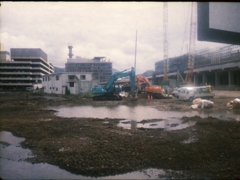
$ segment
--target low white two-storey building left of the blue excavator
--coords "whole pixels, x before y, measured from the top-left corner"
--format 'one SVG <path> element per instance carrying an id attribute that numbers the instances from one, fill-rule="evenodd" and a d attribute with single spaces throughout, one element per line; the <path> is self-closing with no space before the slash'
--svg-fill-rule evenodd
<path id="1" fill-rule="evenodd" d="M 92 80 L 91 73 L 63 72 L 48 74 L 43 77 L 42 87 L 44 93 L 53 94 L 81 94 L 91 91 L 97 82 Z"/>

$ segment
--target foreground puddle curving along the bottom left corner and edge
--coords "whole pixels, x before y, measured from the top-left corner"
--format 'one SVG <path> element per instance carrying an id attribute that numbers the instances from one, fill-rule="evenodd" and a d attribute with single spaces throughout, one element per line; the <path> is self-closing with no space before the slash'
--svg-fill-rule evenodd
<path id="1" fill-rule="evenodd" d="M 0 177 L 1 179 L 156 179 L 161 177 L 173 178 L 168 172 L 162 169 L 143 169 L 126 174 L 106 177 L 86 177 L 72 174 L 57 166 L 47 163 L 31 164 L 24 161 L 33 157 L 29 149 L 20 147 L 25 138 L 12 135 L 11 132 L 0 132 Z M 167 178 L 169 179 L 169 178 Z"/>

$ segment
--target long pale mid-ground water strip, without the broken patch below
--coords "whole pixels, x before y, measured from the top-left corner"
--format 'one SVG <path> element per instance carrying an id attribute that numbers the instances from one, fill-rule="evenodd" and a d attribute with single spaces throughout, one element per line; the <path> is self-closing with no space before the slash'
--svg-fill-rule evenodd
<path id="1" fill-rule="evenodd" d="M 49 109 L 58 111 L 57 116 L 61 117 L 91 117 L 91 118 L 117 118 L 117 119 L 131 119 L 140 122 L 144 119 L 173 119 L 200 116 L 206 118 L 208 116 L 220 118 L 220 119 L 234 119 L 240 120 L 239 113 L 226 112 L 212 112 L 207 113 L 205 111 L 159 111 L 156 108 L 148 106 L 116 106 L 116 107 L 93 107 L 93 106 L 58 106 L 49 107 Z"/>

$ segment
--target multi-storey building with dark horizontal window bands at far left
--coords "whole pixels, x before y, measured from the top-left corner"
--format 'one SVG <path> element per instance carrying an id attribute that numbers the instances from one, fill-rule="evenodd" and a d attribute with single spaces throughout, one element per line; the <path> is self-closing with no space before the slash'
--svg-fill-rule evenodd
<path id="1" fill-rule="evenodd" d="M 1 51 L 0 88 L 2 90 L 26 90 L 42 86 L 42 77 L 54 72 L 47 54 L 39 48 L 11 48 Z"/>

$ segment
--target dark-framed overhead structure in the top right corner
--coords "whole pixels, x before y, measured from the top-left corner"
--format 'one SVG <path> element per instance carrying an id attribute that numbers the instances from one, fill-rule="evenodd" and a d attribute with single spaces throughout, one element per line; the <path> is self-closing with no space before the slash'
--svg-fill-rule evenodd
<path id="1" fill-rule="evenodd" d="M 197 40 L 240 45 L 240 2 L 198 2 Z"/>

